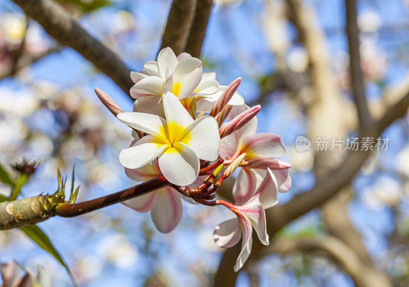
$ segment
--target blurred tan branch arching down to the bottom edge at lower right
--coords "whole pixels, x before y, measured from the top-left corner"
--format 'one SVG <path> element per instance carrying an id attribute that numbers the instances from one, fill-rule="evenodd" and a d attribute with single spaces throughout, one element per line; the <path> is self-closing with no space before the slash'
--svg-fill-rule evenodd
<path id="1" fill-rule="evenodd" d="M 269 253 L 289 254 L 293 252 L 320 252 L 338 264 L 349 274 L 356 286 L 392 286 L 383 276 L 362 264 L 356 253 L 345 243 L 333 236 L 312 239 L 283 238 L 264 248 L 263 255 Z"/>

